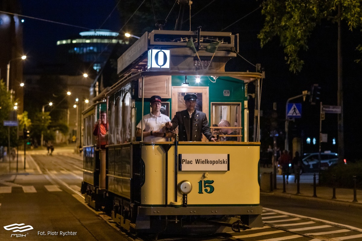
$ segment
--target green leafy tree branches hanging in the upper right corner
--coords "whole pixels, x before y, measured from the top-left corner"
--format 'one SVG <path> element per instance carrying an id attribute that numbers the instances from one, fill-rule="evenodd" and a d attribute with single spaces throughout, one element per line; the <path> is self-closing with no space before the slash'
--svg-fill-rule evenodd
<path id="1" fill-rule="evenodd" d="M 299 58 L 300 50 L 308 50 L 308 38 L 317 24 L 340 20 L 346 22 L 351 31 L 362 27 L 360 0 L 265 0 L 262 7 L 265 23 L 258 34 L 261 47 L 279 36 L 286 63 L 294 73 L 302 70 L 304 61 Z M 355 47 L 362 52 L 361 45 Z"/>

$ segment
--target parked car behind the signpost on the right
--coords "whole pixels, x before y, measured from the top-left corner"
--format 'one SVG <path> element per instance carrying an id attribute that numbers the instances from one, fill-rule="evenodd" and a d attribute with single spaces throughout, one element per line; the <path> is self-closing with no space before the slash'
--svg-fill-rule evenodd
<path id="1" fill-rule="evenodd" d="M 303 171 L 319 171 L 319 153 L 304 153 L 302 157 Z M 338 154 L 334 152 L 322 152 L 320 154 L 320 169 L 327 170 L 331 165 L 338 163 Z"/>

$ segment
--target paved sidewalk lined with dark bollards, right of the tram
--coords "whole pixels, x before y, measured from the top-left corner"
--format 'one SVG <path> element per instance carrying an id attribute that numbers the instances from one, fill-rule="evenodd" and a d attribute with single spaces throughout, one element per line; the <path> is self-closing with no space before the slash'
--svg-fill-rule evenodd
<path id="1" fill-rule="evenodd" d="M 353 202 L 354 194 L 353 189 L 349 188 L 336 188 L 336 199 L 332 199 L 333 197 L 333 188 L 329 188 L 326 186 L 318 185 L 318 173 L 316 173 L 316 195 L 317 197 L 313 197 L 313 174 L 314 173 L 303 173 L 300 175 L 299 181 L 299 192 L 297 193 L 297 184 L 294 183 L 294 175 L 289 175 L 288 184 L 285 184 L 285 193 L 283 193 L 283 176 L 277 175 L 277 189 L 273 188 L 273 191 L 270 191 L 270 172 L 272 172 L 272 168 L 262 168 L 260 167 L 261 174 L 261 195 L 278 195 L 286 198 L 304 198 L 308 200 L 322 201 L 334 203 L 336 205 L 344 205 L 344 206 L 353 206 L 362 208 L 362 190 L 357 189 L 357 201 Z M 263 179 L 264 178 L 264 179 Z M 265 179 L 268 180 L 265 180 Z M 286 177 L 285 177 L 286 178 Z M 286 180 L 287 181 L 287 180 Z M 274 186 L 273 186 L 274 187 Z"/>

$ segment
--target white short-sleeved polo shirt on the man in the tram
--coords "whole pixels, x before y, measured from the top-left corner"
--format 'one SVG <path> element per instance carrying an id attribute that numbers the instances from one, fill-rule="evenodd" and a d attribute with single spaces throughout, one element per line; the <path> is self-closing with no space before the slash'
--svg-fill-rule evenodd
<path id="1" fill-rule="evenodd" d="M 143 116 L 143 130 L 145 132 L 157 131 L 157 132 L 163 132 L 166 133 L 166 122 L 171 121 L 170 117 L 167 115 L 161 114 L 159 116 L 155 116 L 152 113 L 147 114 Z M 138 123 L 137 128 L 141 129 L 141 121 Z M 148 137 L 143 137 L 143 141 L 166 141 L 166 138 L 164 137 L 155 137 L 153 135 L 150 135 Z"/>

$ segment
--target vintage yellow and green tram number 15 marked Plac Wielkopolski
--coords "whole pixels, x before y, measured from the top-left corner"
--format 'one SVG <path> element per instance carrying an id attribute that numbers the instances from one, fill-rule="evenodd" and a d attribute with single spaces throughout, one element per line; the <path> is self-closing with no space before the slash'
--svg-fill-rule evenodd
<path id="1" fill-rule="evenodd" d="M 137 232 L 215 233 L 261 227 L 260 143 L 248 142 L 247 85 L 258 72 L 225 72 L 236 56 L 231 33 L 154 30 L 118 59 L 119 81 L 83 112 L 82 193 L 94 208 L 109 211 L 120 226 Z M 164 142 L 136 137 L 136 125 L 159 95 L 171 119 L 198 96 L 212 132 L 227 120 L 237 141 Z M 96 146 L 92 129 L 107 109 L 108 145 Z M 141 121 L 142 122 L 142 121 Z M 143 129 L 143 124 L 142 128 Z M 182 134 L 182 133 L 180 133 Z"/>

